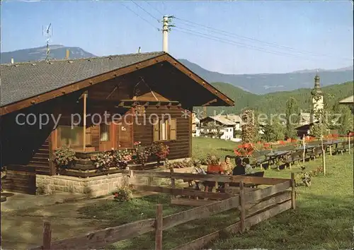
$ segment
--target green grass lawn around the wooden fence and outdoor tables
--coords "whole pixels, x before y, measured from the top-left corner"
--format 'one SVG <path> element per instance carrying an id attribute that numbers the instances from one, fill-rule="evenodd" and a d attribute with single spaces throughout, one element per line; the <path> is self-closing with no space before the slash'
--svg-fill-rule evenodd
<path id="1" fill-rule="evenodd" d="M 214 141 L 215 140 L 215 141 Z M 219 157 L 232 155 L 236 143 L 193 138 L 193 154 L 217 153 Z M 198 155 L 195 155 L 198 156 Z M 315 169 L 321 160 L 305 163 Z M 353 155 L 326 155 L 326 177 L 312 178 L 312 186 L 297 187 L 297 209 L 287 210 L 251 228 L 245 234 L 236 234 L 213 242 L 211 249 L 349 249 L 353 247 Z M 299 167 L 293 166 L 293 172 Z M 290 169 L 266 170 L 265 177 L 290 178 Z M 169 196 L 145 196 L 127 203 L 108 201 L 102 206 L 81 210 L 84 217 L 108 220 L 107 226 L 121 225 L 135 220 L 154 218 L 156 204 L 164 206 L 164 215 L 188 209 L 169 204 Z M 227 227 L 239 220 L 236 210 L 195 220 L 164 231 L 163 249 L 190 242 L 205 234 Z M 110 249 L 154 249 L 154 233 L 114 244 Z"/>

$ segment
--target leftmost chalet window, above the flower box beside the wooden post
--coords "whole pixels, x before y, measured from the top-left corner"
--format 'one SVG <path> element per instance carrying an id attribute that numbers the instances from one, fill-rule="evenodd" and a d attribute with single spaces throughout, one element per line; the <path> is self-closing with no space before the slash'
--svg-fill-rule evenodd
<path id="1" fill-rule="evenodd" d="M 82 148 L 84 144 L 84 127 L 58 126 L 57 148 L 64 145 L 70 148 Z"/>

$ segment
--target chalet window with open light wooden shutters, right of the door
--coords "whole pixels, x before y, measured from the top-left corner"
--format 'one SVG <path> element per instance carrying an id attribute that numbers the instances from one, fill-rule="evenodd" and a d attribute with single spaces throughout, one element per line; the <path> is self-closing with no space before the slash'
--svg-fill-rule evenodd
<path id="1" fill-rule="evenodd" d="M 158 120 L 154 122 L 154 141 L 176 140 L 176 119 Z"/>

